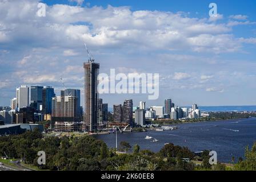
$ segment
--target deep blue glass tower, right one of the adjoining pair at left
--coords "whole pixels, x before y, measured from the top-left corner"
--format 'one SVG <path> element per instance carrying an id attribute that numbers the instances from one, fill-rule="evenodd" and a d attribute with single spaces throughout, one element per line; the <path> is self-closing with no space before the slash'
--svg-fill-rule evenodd
<path id="1" fill-rule="evenodd" d="M 51 88 L 51 86 L 43 86 L 43 114 L 51 114 L 51 102 L 53 97 L 55 97 L 54 88 Z"/>

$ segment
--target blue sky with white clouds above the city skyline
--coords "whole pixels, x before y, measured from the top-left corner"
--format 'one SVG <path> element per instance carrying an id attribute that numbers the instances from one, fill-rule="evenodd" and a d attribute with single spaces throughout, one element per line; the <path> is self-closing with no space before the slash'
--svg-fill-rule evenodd
<path id="1" fill-rule="evenodd" d="M 49 85 L 60 95 L 60 78 L 83 93 L 85 42 L 100 73 L 159 73 L 158 100 L 101 94 L 109 107 L 166 98 L 178 106 L 256 105 L 255 12 L 254 0 L 0 0 L 0 106 L 20 85 Z"/>

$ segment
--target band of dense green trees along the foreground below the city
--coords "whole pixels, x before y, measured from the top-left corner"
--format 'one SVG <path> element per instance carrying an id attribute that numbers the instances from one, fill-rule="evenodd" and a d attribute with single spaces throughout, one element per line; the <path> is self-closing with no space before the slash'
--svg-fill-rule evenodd
<path id="1" fill-rule="evenodd" d="M 37 152 L 46 152 L 46 165 L 38 166 Z M 43 138 L 38 130 L 28 131 L 21 135 L 10 135 L 0 138 L 0 155 L 9 158 L 24 159 L 27 164 L 50 170 L 195 170 L 195 169 L 226 169 L 222 164 L 214 168 L 209 165 L 209 151 L 201 158 L 195 156 L 187 147 L 166 144 L 159 152 L 141 150 L 136 144 L 130 146 L 121 142 L 118 154 L 114 148 L 108 148 L 102 140 L 86 136 L 47 137 Z M 185 162 L 183 158 L 202 160 L 202 166 Z M 256 144 L 246 150 L 246 160 L 235 165 L 236 169 L 256 169 Z"/>

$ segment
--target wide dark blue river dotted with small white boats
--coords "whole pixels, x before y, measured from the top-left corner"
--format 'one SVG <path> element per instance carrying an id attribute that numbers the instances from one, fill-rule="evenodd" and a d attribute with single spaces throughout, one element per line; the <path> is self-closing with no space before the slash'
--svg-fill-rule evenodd
<path id="1" fill-rule="evenodd" d="M 134 146 L 139 144 L 142 149 L 158 152 L 165 143 L 186 146 L 191 151 L 217 151 L 218 161 L 229 163 L 232 156 L 237 161 L 244 156 L 245 147 L 256 142 L 256 118 L 232 119 L 229 121 L 213 121 L 201 123 L 185 123 L 176 125 L 177 130 L 147 131 L 142 133 L 118 133 L 118 143 L 126 141 Z M 238 131 L 239 130 L 239 131 Z M 144 139 L 150 135 L 158 142 Z M 115 147 L 115 134 L 97 135 L 109 147 Z"/>

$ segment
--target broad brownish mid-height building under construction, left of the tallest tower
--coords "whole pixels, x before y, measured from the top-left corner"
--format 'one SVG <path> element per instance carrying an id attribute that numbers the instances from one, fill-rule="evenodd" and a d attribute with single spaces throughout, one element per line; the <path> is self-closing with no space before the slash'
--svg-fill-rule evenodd
<path id="1" fill-rule="evenodd" d="M 53 97 L 52 117 L 55 131 L 79 131 L 77 97 Z"/>

